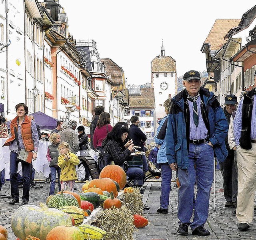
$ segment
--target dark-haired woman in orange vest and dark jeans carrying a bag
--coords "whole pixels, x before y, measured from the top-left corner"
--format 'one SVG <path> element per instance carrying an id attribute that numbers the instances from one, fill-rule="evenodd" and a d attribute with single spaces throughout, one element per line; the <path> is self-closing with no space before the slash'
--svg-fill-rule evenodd
<path id="1" fill-rule="evenodd" d="M 18 151 L 25 149 L 26 151 L 34 151 L 33 159 L 37 157 L 39 145 L 38 132 L 36 124 L 27 116 L 28 107 L 24 103 L 19 103 L 15 106 L 17 116 L 10 123 L 10 138 L 6 140 L 4 146 L 9 146 L 10 154 L 10 182 L 12 201 L 9 204 L 14 205 L 19 202 L 18 188 Z M 16 137 L 18 137 L 18 141 Z M 19 144 L 19 146 L 18 146 Z M 23 196 L 22 205 L 28 204 L 29 189 L 30 189 L 30 163 L 22 161 L 22 176 L 23 176 Z"/>

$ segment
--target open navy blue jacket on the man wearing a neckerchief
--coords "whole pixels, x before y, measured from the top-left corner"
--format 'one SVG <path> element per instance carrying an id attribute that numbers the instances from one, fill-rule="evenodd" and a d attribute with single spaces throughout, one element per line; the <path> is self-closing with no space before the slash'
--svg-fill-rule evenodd
<path id="1" fill-rule="evenodd" d="M 220 162 L 228 155 L 225 138 L 228 133 L 228 122 L 213 92 L 200 87 L 200 97 L 203 100 L 201 108 L 202 115 L 208 128 L 209 141 L 214 148 L 214 156 Z M 186 108 L 187 121 L 185 120 L 184 102 L 186 102 L 185 89 L 172 98 L 171 113 L 168 116 L 166 129 L 166 156 L 168 163 L 177 163 L 181 169 L 188 169 L 188 147 L 189 147 L 189 108 Z M 213 161 L 213 159 L 212 159 Z"/>

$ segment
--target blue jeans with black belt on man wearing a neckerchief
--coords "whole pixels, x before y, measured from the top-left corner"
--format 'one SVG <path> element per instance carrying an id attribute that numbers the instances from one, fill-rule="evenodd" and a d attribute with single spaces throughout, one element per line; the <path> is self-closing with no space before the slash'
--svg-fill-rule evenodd
<path id="1" fill-rule="evenodd" d="M 208 218 L 210 191 L 214 172 L 214 151 L 207 143 L 189 145 L 188 169 L 178 169 L 180 188 L 178 191 L 179 224 L 190 225 L 193 231 L 198 226 L 204 226 Z M 197 193 L 193 221 L 194 186 Z"/>

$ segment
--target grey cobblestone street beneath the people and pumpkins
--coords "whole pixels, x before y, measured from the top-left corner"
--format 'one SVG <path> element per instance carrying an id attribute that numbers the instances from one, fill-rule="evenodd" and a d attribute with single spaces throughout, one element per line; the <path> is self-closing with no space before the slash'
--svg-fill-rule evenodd
<path id="1" fill-rule="evenodd" d="M 46 202 L 50 185 L 47 183 L 37 183 L 42 185 L 40 189 L 30 189 L 30 201 L 32 205 L 39 205 L 40 202 Z M 76 183 L 76 191 L 79 191 L 83 183 Z M 158 214 L 156 210 L 159 208 L 160 198 L 160 181 L 149 181 L 144 184 L 145 192 L 143 196 L 144 202 L 150 207 L 150 210 L 145 211 L 146 217 L 149 219 L 149 224 L 145 228 L 140 228 L 139 232 L 134 234 L 136 240 L 185 240 L 185 239 L 216 239 L 216 240 L 238 240 L 238 239 L 256 239 L 255 231 L 256 224 L 252 222 L 247 232 L 241 232 L 237 229 L 238 221 L 234 214 L 233 208 L 224 207 L 224 196 L 222 190 L 222 176 L 220 171 L 216 172 L 216 210 L 214 210 L 214 194 L 212 188 L 212 194 L 210 197 L 210 209 L 208 220 L 205 224 L 205 228 L 210 230 L 210 236 L 197 236 L 191 235 L 189 228 L 188 236 L 178 236 L 176 230 L 178 228 L 177 219 L 177 205 L 178 205 L 178 189 L 174 188 L 172 183 L 172 191 L 170 193 L 170 206 L 168 214 Z M 22 189 L 20 189 L 20 194 Z M 3 185 L 1 194 L 10 193 L 10 181 L 6 181 Z M 0 217 L 0 224 L 8 230 L 8 240 L 16 240 L 12 229 L 10 228 L 10 219 L 14 210 L 21 206 L 20 203 L 15 205 L 9 205 L 10 200 L 6 198 L 0 198 L 0 211 L 2 215 Z"/>

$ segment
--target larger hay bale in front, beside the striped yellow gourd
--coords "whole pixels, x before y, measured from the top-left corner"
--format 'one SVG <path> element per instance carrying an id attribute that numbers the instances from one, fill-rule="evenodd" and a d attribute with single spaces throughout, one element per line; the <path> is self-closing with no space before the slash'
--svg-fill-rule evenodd
<path id="1" fill-rule="evenodd" d="M 102 228 L 108 233 L 114 233 L 112 240 L 133 240 L 133 232 L 138 231 L 133 220 L 132 212 L 127 207 L 122 206 L 117 209 L 112 206 L 110 209 L 100 211 L 92 225 Z"/>

